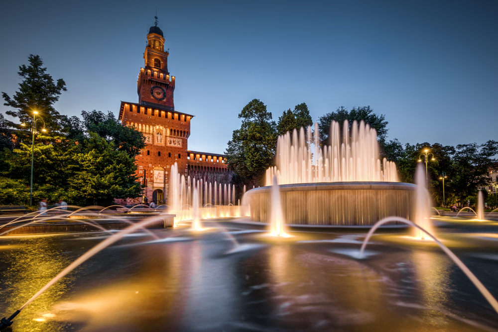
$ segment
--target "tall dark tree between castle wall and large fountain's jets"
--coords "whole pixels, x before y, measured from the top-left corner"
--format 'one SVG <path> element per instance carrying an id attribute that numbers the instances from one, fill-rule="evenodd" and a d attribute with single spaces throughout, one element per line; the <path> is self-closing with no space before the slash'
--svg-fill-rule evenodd
<path id="1" fill-rule="evenodd" d="M 251 100 L 239 118 L 242 119 L 241 128 L 234 130 L 225 152 L 227 165 L 242 178 L 240 184 L 257 186 L 275 156 L 276 124 L 258 99 Z"/>

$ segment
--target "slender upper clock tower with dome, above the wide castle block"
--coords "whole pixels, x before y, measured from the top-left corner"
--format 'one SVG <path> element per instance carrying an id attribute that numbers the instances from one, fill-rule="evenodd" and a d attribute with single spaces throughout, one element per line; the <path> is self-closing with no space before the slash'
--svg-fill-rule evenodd
<path id="1" fill-rule="evenodd" d="M 143 53 L 145 65 L 140 68 L 138 75 L 136 91 L 139 104 L 160 106 L 167 110 L 175 109 L 175 77 L 170 77 L 168 72 L 168 55 L 169 53 L 164 51 L 164 34 L 156 21 L 147 34 L 147 47 Z"/>

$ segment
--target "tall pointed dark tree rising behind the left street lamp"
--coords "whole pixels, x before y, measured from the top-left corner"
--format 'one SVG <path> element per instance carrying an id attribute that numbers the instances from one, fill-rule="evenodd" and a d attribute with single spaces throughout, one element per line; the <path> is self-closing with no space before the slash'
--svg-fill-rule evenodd
<path id="1" fill-rule="evenodd" d="M 62 91 L 67 91 L 64 80 L 59 79 L 57 83 L 46 73 L 47 69 L 43 67 L 43 61 L 38 55 L 29 55 L 29 65 L 19 66 L 17 73 L 22 82 L 19 83 L 19 90 L 11 98 L 5 92 L 2 97 L 5 100 L 4 105 L 10 106 L 15 110 L 8 110 L 5 113 L 16 117 L 20 122 L 30 123 L 30 117 L 33 111 L 37 111 L 37 116 L 44 122 L 50 132 L 56 132 L 60 129 L 60 114 L 54 108 L 54 103 L 59 100 Z M 17 129 L 21 129 L 19 124 L 11 121 L 7 123 Z"/>

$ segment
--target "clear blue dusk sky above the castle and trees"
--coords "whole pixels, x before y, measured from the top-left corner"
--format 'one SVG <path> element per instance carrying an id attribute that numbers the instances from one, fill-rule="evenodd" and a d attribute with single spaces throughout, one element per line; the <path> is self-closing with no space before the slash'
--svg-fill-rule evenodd
<path id="1" fill-rule="evenodd" d="M 498 140 L 497 1 L 4 1 L 0 91 L 37 54 L 67 84 L 60 113 L 118 115 L 156 6 L 191 150 L 223 153 L 253 98 L 274 120 L 370 105 L 403 144 Z"/>

